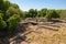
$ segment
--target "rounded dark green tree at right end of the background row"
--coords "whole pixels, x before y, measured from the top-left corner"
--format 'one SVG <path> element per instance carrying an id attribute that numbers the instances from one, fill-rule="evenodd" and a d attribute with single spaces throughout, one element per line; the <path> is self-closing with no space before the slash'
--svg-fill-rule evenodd
<path id="1" fill-rule="evenodd" d="M 47 14 L 45 15 L 47 20 L 59 18 L 59 14 L 55 10 L 48 10 Z"/>

